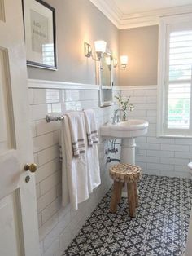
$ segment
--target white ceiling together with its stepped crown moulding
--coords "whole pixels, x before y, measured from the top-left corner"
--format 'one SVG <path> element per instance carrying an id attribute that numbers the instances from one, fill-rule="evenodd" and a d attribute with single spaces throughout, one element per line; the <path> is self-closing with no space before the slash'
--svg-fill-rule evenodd
<path id="1" fill-rule="evenodd" d="M 118 29 L 159 24 L 159 17 L 191 13 L 192 0 L 89 0 Z"/>

